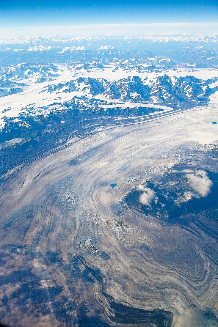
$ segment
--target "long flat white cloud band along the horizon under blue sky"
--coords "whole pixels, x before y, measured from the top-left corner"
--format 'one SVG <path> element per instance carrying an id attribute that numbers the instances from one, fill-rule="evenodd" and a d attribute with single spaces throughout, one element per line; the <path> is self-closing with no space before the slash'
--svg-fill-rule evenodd
<path id="1" fill-rule="evenodd" d="M 82 34 L 144 34 L 144 33 L 187 33 L 204 35 L 218 34 L 218 23 L 150 23 L 150 24 L 90 24 L 68 26 L 27 26 L 0 28 L 0 37 L 39 36 L 39 35 L 82 35 Z M 184 35 L 184 37 L 188 37 Z"/>

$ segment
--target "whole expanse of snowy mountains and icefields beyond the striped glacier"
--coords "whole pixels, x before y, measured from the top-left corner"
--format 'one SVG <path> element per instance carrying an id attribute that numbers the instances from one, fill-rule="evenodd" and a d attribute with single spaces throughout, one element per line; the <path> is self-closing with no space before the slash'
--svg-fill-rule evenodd
<path id="1" fill-rule="evenodd" d="M 3 54 L 1 142 L 22 139 L 67 117 L 157 114 L 216 99 L 218 61 L 212 50 L 186 49 L 177 57 L 173 50 L 169 57 L 167 52 L 161 57 L 160 51 L 156 55 L 112 46 L 97 50 L 59 46 L 57 51 L 55 46 L 38 46 L 39 42 L 43 41 L 31 40 L 27 50 L 14 50 L 13 60 L 10 49 Z M 31 60 L 18 62 L 27 57 Z"/>

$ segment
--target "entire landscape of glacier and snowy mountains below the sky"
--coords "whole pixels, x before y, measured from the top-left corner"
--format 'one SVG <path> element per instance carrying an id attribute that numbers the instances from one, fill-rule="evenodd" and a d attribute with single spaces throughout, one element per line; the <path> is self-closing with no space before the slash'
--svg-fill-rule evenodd
<path id="1" fill-rule="evenodd" d="M 218 37 L 0 40 L 0 322 L 218 326 Z"/>

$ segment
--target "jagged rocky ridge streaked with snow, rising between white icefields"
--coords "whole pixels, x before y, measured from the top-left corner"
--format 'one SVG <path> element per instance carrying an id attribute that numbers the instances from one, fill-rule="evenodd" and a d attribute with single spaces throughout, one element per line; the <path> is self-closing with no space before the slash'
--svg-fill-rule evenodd
<path id="1" fill-rule="evenodd" d="M 147 101 L 167 103 L 203 103 L 208 100 L 211 90 L 204 80 L 193 76 L 173 77 L 168 75 L 142 79 L 139 76 L 107 80 L 105 78 L 79 77 L 65 83 L 51 84 L 45 93 L 73 93 L 102 95 L 124 101 Z M 183 105 L 183 104 L 182 104 Z"/>

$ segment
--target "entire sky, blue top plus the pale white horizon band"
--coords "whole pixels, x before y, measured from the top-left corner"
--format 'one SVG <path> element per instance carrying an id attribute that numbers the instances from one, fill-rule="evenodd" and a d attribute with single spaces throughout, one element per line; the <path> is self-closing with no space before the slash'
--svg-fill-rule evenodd
<path id="1" fill-rule="evenodd" d="M 217 0 L 0 0 L 0 37 L 141 31 L 217 34 L 217 23 Z"/>

